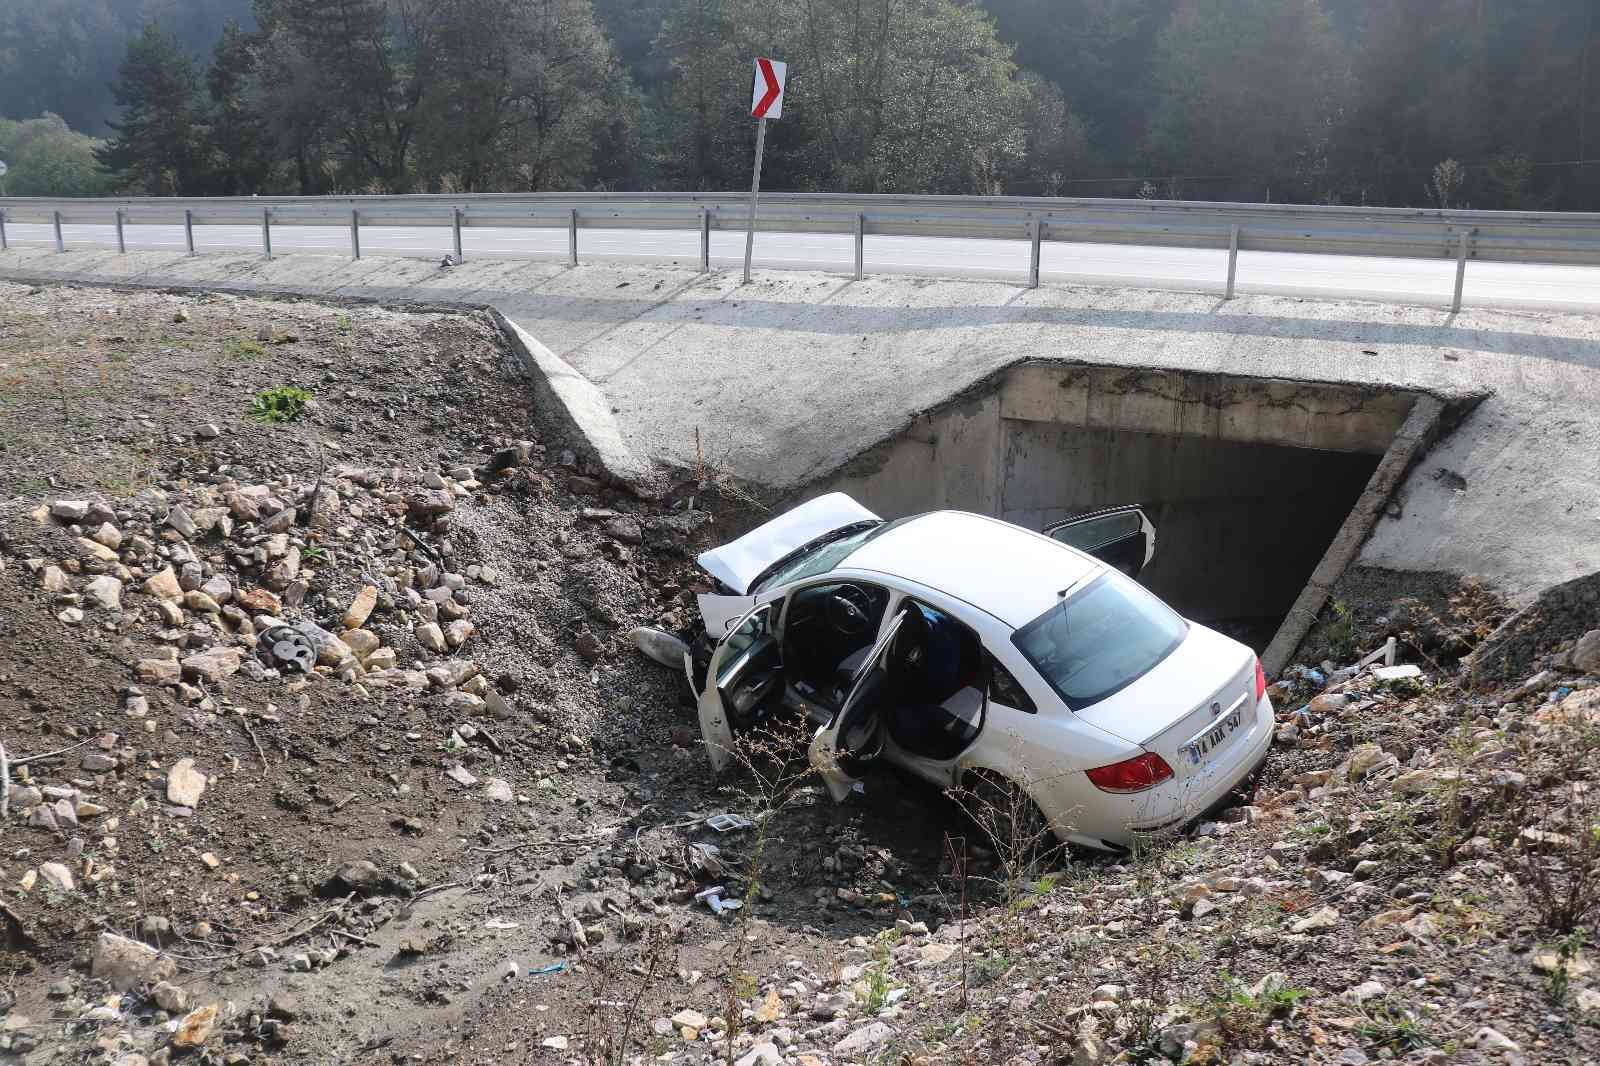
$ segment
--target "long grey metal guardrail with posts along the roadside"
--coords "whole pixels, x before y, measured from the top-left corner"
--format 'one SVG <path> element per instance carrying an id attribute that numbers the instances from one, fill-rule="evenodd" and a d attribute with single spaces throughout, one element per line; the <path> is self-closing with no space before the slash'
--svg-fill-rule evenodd
<path id="1" fill-rule="evenodd" d="M 350 254 L 360 258 L 362 226 L 435 226 L 461 234 L 470 227 L 565 229 L 568 256 L 578 262 L 584 229 L 699 230 L 701 269 L 710 269 L 710 232 L 742 230 L 747 194 L 472 194 L 358 197 L 134 197 L 107 200 L 0 198 L 0 248 L 5 224 L 54 226 L 64 251 L 64 224 L 114 224 L 118 251 L 125 227 L 182 224 L 194 254 L 194 227 L 259 224 L 262 253 L 272 256 L 272 227 L 349 226 Z M 766 194 L 755 227 L 763 232 L 845 234 L 854 237 L 856 277 L 866 271 L 866 237 L 968 237 L 1026 240 L 1029 285 L 1038 285 L 1043 242 L 1152 245 L 1227 250 L 1232 298 L 1240 251 L 1301 251 L 1336 256 L 1454 259 L 1453 307 L 1469 259 L 1491 262 L 1600 264 L 1600 214 L 1550 211 L 1437 211 L 1411 208 L 1296 206 L 1275 203 L 1198 203 L 1181 200 L 1088 200 L 1054 197 L 898 197 L 840 194 Z"/>

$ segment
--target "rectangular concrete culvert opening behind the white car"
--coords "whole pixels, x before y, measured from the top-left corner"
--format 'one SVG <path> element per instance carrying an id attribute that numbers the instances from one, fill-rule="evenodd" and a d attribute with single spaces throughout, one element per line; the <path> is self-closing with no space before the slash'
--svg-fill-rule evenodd
<path id="1" fill-rule="evenodd" d="M 938 507 L 1029 528 L 1142 504 L 1142 581 L 1282 669 L 1395 487 L 1482 394 L 1066 363 L 1011 367 L 851 459 L 843 490 L 885 517 Z"/>

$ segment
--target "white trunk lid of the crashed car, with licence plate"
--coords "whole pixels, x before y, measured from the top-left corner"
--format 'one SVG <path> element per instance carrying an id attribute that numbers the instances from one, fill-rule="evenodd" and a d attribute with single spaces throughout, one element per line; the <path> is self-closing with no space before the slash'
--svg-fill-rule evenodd
<path id="1" fill-rule="evenodd" d="M 1250 648 L 1205 626 L 1190 626 L 1184 642 L 1144 677 L 1077 714 L 1154 751 L 1182 779 L 1250 731 L 1254 690 Z"/>

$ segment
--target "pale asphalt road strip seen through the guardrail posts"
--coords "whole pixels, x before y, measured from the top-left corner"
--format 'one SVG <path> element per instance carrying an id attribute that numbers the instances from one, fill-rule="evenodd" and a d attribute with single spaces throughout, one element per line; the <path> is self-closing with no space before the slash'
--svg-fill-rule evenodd
<path id="1" fill-rule="evenodd" d="M 182 250 L 181 226 L 130 226 L 128 246 Z M 50 226 L 11 224 L 11 242 L 50 245 Z M 64 226 L 69 248 L 115 245 L 110 226 Z M 467 258 L 566 256 L 565 229 L 467 229 Z M 254 226 L 202 226 L 195 229 L 200 251 L 259 250 Z M 342 227 L 275 226 L 275 251 L 326 251 L 349 254 L 349 230 Z M 443 256 L 450 251 L 446 227 L 362 229 L 362 250 L 378 254 Z M 1046 243 L 1042 275 L 1134 288 L 1221 291 L 1227 279 L 1224 251 L 1192 248 L 1142 248 L 1130 245 Z M 693 230 L 589 229 L 579 232 L 579 259 L 696 262 L 699 235 Z M 734 267 L 744 261 L 744 234 L 714 232 L 712 264 Z M 848 235 L 757 234 L 760 267 L 848 271 L 854 245 Z M 928 274 L 1018 280 L 1027 275 L 1027 243 L 1013 240 L 957 240 L 928 237 L 867 237 L 866 269 L 870 274 Z M 1240 291 L 1302 296 L 1365 298 L 1406 304 L 1448 304 L 1454 287 L 1451 259 L 1390 259 L 1365 256 L 1310 256 L 1245 251 L 1238 256 Z M 1594 311 L 1600 307 L 1600 267 L 1469 262 L 1464 303 L 1482 307 L 1538 307 Z"/>

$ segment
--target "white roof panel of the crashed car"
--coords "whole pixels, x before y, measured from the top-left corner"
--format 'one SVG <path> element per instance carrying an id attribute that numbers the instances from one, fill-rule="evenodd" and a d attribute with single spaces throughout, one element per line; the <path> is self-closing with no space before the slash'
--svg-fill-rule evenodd
<path id="1" fill-rule="evenodd" d="M 968 511 L 934 511 L 899 522 L 840 567 L 939 589 L 1011 627 L 1034 621 L 1062 589 L 1102 570 L 1048 536 Z"/>

